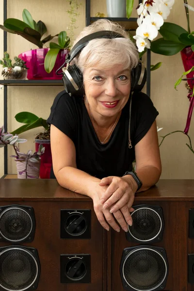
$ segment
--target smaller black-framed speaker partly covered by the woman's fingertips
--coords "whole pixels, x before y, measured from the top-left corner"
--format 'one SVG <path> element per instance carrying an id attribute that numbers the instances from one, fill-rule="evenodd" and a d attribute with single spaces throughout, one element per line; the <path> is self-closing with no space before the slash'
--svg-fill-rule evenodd
<path id="1" fill-rule="evenodd" d="M 138 205 L 131 213 L 133 225 L 128 226 L 129 242 L 150 243 L 162 241 L 164 218 L 162 208 L 156 205 Z"/>

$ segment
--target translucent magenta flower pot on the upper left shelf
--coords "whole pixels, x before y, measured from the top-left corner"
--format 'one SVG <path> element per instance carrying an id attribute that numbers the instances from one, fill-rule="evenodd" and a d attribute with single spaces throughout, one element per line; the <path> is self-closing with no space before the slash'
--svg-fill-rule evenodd
<path id="1" fill-rule="evenodd" d="M 22 52 L 18 55 L 18 58 L 26 62 L 28 69 L 28 80 L 61 80 L 62 75 L 56 75 L 56 70 L 65 63 L 66 54 L 68 50 L 61 49 L 57 55 L 57 59 L 54 68 L 50 73 L 45 71 L 45 56 L 49 49 L 31 49 Z M 65 64 L 66 66 L 66 64 Z M 61 73 L 61 72 L 59 72 Z"/>

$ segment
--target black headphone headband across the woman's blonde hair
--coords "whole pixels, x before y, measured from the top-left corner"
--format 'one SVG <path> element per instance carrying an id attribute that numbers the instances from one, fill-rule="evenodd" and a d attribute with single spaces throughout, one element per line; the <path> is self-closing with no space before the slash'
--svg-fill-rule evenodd
<path id="1" fill-rule="evenodd" d="M 117 33 L 117 32 L 112 32 L 112 31 L 99 31 L 99 32 L 94 32 L 91 33 L 89 35 L 84 36 L 83 38 L 81 38 L 76 44 L 75 46 L 71 49 L 71 51 L 69 52 L 69 54 L 66 57 L 66 63 L 70 63 L 80 52 L 81 50 L 87 46 L 87 44 L 89 43 L 90 40 L 92 39 L 96 39 L 96 38 L 124 38 L 123 35 Z"/>

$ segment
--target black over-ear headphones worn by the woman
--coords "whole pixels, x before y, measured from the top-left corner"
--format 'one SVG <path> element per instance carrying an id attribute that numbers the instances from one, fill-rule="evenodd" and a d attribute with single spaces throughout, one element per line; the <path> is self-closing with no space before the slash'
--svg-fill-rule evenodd
<path id="1" fill-rule="evenodd" d="M 65 63 L 70 63 L 88 44 L 88 42 L 95 38 L 117 38 L 124 37 L 123 35 L 112 31 L 99 31 L 91 33 L 81 38 L 76 45 L 71 49 L 66 56 Z M 63 64 L 58 70 L 60 70 L 65 64 Z M 57 72 L 58 72 L 57 70 Z M 83 96 L 83 76 L 77 65 L 68 65 L 68 68 L 63 67 L 63 83 L 65 91 L 72 96 Z M 56 73 L 57 73 L 56 72 Z M 60 75 L 60 74 L 58 74 Z M 131 70 L 131 91 L 141 91 L 146 83 L 146 68 L 139 62 L 138 65 Z"/>

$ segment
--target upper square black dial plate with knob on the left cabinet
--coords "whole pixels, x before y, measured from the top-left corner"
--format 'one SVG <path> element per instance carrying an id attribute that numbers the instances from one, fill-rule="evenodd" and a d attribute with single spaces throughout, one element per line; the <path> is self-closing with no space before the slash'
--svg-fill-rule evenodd
<path id="1" fill-rule="evenodd" d="M 62 239 L 91 238 L 91 210 L 61 210 Z"/>

